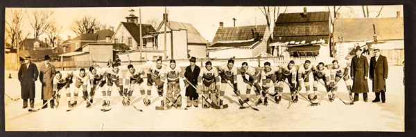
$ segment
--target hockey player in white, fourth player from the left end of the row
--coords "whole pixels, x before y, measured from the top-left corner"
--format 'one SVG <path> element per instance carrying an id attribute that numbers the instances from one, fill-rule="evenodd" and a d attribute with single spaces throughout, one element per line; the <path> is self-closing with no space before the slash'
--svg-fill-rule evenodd
<path id="1" fill-rule="evenodd" d="M 105 70 L 105 76 L 107 76 L 107 94 L 103 92 L 103 101 L 104 101 L 103 106 L 110 107 L 110 97 L 111 97 L 113 83 L 116 85 L 116 88 L 119 90 L 120 96 L 123 96 L 123 92 L 121 92 L 121 89 L 123 89 L 123 78 L 122 78 L 123 75 L 121 74 L 119 65 L 112 64 L 112 67 L 109 67 L 107 70 Z"/>

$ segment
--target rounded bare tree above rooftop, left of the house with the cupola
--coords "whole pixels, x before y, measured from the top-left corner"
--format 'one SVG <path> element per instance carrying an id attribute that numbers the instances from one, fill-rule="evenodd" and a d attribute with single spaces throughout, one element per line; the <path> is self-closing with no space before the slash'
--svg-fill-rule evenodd
<path id="1" fill-rule="evenodd" d="M 101 25 L 97 20 L 97 17 L 90 17 L 85 15 L 84 17 L 73 21 L 71 30 L 77 35 L 94 34 L 94 31 L 102 29 L 102 26 L 103 25 Z"/>

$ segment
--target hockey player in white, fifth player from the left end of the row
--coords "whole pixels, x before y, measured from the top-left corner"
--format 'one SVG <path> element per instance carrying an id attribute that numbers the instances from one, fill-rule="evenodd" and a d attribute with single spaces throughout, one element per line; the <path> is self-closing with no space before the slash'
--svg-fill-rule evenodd
<path id="1" fill-rule="evenodd" d="M 130 105 L 130 97 L 133 94 L 133 91 L 135 90 L 135 85 L 139 85 L 141 96 L 144 96 L 144 85 L 143 85 L 143 77 L 144 77 L 144 70 L 135 69 L 133 65 L 128 65 L 128 72 L 125 73 L 125 85 L 124 86 L 124 96 L 123 96 L 123 105 Z M 126 101 L 127 98 L 127 101 Z M 144 105 L 150 105 L 150 100 L 148 99 L 148 95 L 146 95 L 145 98 L 143 98 Z"/>

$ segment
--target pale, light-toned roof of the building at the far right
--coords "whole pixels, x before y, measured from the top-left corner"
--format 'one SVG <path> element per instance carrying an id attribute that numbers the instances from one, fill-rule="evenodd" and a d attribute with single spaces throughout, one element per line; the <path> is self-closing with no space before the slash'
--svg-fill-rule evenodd
<path id="1" fill-rule="evenodd" d="M 333 40 L 372 41 L 373 24 L 378 40 L 404 39 L 403 18 L 340 18 L 334 22 Z"/>

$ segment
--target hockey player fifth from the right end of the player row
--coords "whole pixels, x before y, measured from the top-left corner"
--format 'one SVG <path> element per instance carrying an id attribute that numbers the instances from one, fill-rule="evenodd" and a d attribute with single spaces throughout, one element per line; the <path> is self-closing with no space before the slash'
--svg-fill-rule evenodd
<path id="1" fill-rule="evenodd" d="M 263 83 L 263 89 L 266 91 L 268 90 L 272 85 L 270 85 L 270 81 L 272 83 L 275 83 L 275 94 L 279 93 L 279 83 L 277 81 L 277 72 L 279 72 L 279 67 L 272 67 L 270 66 L 269 62 L 264 63 L 264 69 L 261 70 L 261 82 Z M 264 96 L 264 105 L 268 104 L 267 101 L 267 94 L 265 93 Z"/>

